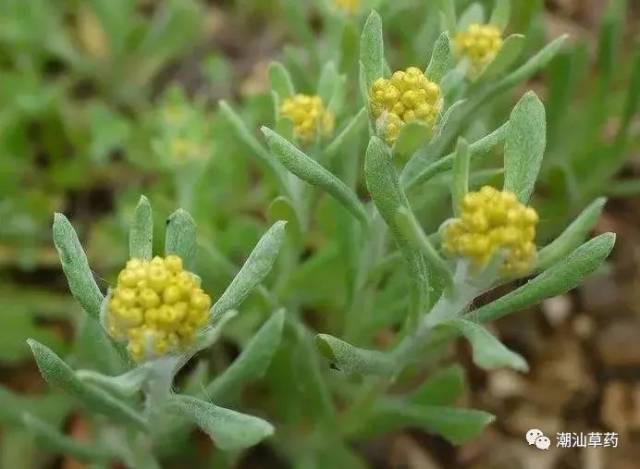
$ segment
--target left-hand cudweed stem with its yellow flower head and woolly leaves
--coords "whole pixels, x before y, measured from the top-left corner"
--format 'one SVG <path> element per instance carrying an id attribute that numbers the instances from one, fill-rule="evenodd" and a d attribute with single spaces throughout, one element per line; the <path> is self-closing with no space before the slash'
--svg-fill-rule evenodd
<path id="1" fill-rule="evenodd" d="M 152 257 L 152 224 L 151 206 L 142 197 L 130 230 L 131 259 L 115 288 L 104 296 L 71 224 L 63 215 L 55 216 L 54 241 L 69 288 L 87 320 L 102 327 L 94 352 L 111 356 L 116 367 L 126 370 L 117 376 L 73 370 L 45 345 L 29 341 L 49 384 L 112 421 L 101 424 L 96 417 L 97 440 L 83 445 L 32 415 L 24 416 L 25 424 L 51 446 L 81 460 L 119 459 L 130 467 L 160 467 L 152 453 L 154 444 L 172 431 L 188 431 L 190 423 L 224 450 L 251 446 L 273 433 L 273 426 L 261 418 L 175 393 L 172 383 L 194 354 L 218 340 L 237 314 L 235 308 L 269 273 L 284 239 L 284 222 L 265 233 L 213 306 L 199 277 L 189 270 L 196 255 L 196 227 L 190 215 L 178 210 L 168 218 L 164 258 Z M 216 394 L 262 374 L 280 340 L 283 319 L 283 311 L 274 312 L 255 335 L 255 345 L 249 343 L 204 391 Z M 139 402 L 140 394 L 144 402 Z"/>

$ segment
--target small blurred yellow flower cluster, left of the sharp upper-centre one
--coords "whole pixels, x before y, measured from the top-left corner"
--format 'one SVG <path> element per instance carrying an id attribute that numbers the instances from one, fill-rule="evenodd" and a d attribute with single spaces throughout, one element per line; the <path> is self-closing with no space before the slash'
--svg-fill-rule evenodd
<path id="1" fill-rule="evenodd" d="M 293 122 L 293 133 L 303 143 L 313 142 L 318 132 L 323 137 L 333 133 L 335 118 L 320 96 L 297 94 L 284 100 L 280 112 Z"/>

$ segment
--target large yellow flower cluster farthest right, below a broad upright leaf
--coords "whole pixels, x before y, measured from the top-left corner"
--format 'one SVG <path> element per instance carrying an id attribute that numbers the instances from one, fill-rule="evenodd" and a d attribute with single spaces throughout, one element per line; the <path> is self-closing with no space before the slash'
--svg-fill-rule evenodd
<path id="1" fill-rule="evenodd" d="M 536 256 L 538 214 L 511 192 L 485 186 L 467 194 L 460 218 L 444 230 L 443 247 L 453 255 L 469 258 L 483 267 L 496 251 L 505 257 L 500 273 L 505 276 L 527 273 Z"/>

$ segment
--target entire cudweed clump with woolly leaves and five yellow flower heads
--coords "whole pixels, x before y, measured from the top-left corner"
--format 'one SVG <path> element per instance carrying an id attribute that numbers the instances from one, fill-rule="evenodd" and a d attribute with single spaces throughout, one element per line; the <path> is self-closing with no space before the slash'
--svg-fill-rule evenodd
<path id="1" fill-rule="evenodd" d="M 345 31 L 357 16 L 353 5 L 333 5 L 348 13 Z M 347 79 L 353 64 L 336 65 L 344 57 L 299 87 L 274 62 L 273 125 L 261 127 L 266 144 L 220 102 L 221 117 L 277 195 L 266 209 L 272 227 L 218 299 L 197 275 L 210 250 L 196 251 L 186 211 L 169 217 L 165 252 L 154 257 L 151 207 L 141 198 L 130 260 L 106 294 L 70 223 L 56 215 L 69 288 L 95 325 L 95 354 L 108 357 L 111 372 L 73 370 L 30 341 L 44 379 L 85 405 L 97 439 L 80 444 L 32 415 L 24 416 L 28 428 L 54 449 L 97 463 L 158 467 L 166 443 L 195 425 L 222 450 L 219 467 L 264 440 L 294 467 L 358 468 L 366 465 L 352 442 L 419 427 L 461 444 L 494 420 L 456 406 L 464 376 L 459 366 L 438 368 L 443 346 L 462 337 L 478 367 L 525 372 L 526 360 L 485 324 L 579 285 L 603 264 L 615 235 L 583 243 L 604 205 L 596 199 L 557 238 L 539 242 L 531 196 L 547 132 L 533 92 L 498 128 L 467 141 L 466 124 L 478 110 L 543 68 L 564 38 L 518 63 L 524 37 L 504 36 L 509 2 L 496 2 L 488 19 L 477 4 L 460 17 L 453 2 L 441 7 L 442 32 L 427 63 L 416 54 L 414 63 L 393 68 L 382 19 L 371 12 L 359 40 L 358 90 Z M 156 148 L 171 153 L 171 145 Z M 500 164 L 487 169 L 495 154 Z M 434 194 L 450 200 L 444 220 L 430 218 L 425 198 Z M 220 264 L 237 270 L 228 259 Z M 339 290 L 310 299 L 335 277 Z M 476 298 L 513 281 L 519 286 L 474 308 Z M 204 389 L 176 392 L 178 371 L 242 318 L 237 311 L 252 291 L 269 319 Z M 305 321 L 310 304 L 339 314 Z M 223 407 L 260 377 L 268 391 L 261 413 L 272 423 Z"/>

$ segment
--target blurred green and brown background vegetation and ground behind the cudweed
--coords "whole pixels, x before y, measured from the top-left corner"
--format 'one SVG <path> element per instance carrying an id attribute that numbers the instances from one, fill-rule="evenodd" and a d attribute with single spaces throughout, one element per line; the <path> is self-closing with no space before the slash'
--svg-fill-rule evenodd
<path id="1" fill-rule="evenodd" d="M 459 11 L 467 3 L 456 2 Z M 258 136 L 258 127 L 273 121 L 268 64 L 276 59 L 288 67 L 303 92 L 315 88 L 328 60 L 337 61 L 348 89 L 356 90 L 359 31 L 370 7 L 384 18 L 391 68 L 423 66 L 439 33 L 436 2 L 362 4 L 353 16 L 345 16 L 331 8 L 331 0 L 0 0 L 0 467 L 78 467 L 41 453 L 18 418 L 20 409 L 28 408 L 82 437 L 82 418 L 69 412 L 71 404 L 64 397 L 44 390 L 25 343 L 27 337 L 36 338 L 58 353 L 71 354 L 74 364 L 95 358 L 90 357 L 90 331 L 80 324 L 51 242 L 53 212 L 73 221 L 98 282 L 106 288 L 126 260 L 128 222 L 140 194 L 152 200 L 158 219 L 183 206 L 196 219 L 201 240 L 207 241 L 199 271 L 209 291 L 219 295 L 233 265 L 243 261 L 269 225 L 266 211 L 277 191 L 248 156 L 252 149 L 220 115 L 217 102 L 228 101 Z M 637 226 L 624 221 L 637 225 L 640 209 L 634 203 L 640 193 L 640 5 L 516 0 L 512 10 L 508 32 L 526 34 L 523 57 L 564 33 L 570 34 L 570 43 L 526 86 L 486 103 L 465 134 L 474 140 L 504 122 L 522 93 L 533 88 L 545 102 L 548 118 L 545 166 L 534 199 L 542 216 L 541 241 L 557 234 L 595 197 L 606 195 L 613 202 L 603 223 L 632 231 L 629 243 L 635 246 Z M 354 95 L 348 93 L 345 99 Z M 338 159 L 361 158 L 363 144 L 354 142 L 354 154 Z M 434 214 L 431 228 L 436 229 L 446 214 L 445 201 L 428 205 Z M 318 311 L 338 313 L 344 297 L 337 275 L 343 265 L 331 250 L 336 222 L 331 211 L 322 210 L 321 226 L 305 240 L 309 260 L 286 286 L 304 301 L 311 321 Z M 633 254 L 622 271 L 635 278 L 637 254 L 633 247 L 627 251 Z M 595 290 L 581 293 L 577 304 L 569 298 L 563 311 L 579 309 L 589 319 L 589 300 L 598 291 L 606 298 L 614 288 L 612 278 L 587 285 Z M 614 296 L 621 292 L 613 291 Z M 631 299 L 621 297 L 633 321 L 638 308 L 629 305 L 635 297 L 637 293 Z M 617 304 L 602 301 L 596 301 L 596 309 Z M 557 311 L 554 305 L 547 306 Z M 234 343 L 251 334 L 260 318 L 247 317 L 233 328 L 228 349 L 218 352 L 233 355 Z M 517 321 L 519 327 L 541 327 L 544 335 L 545 328 L 555 324 L 545 317 L 537 326 L 526 316 Z M 585 324 L 595 327 L 594 321 Z M 636 326 L 633 323 L 632 330 L 640 331 Z M 576 334 L 576 346 L 588 346 Z M 516 340 L 533 339 L 516 335 Z M 544 348 L 537 342 L 523 347 L 534 355 Z M 634 350 L 632 363 L 622 365 L 637 373 L 637 345 Z M 535 373 L 532 379 L 537 379 Z M 596 381 L 598 405 L 607 392 L 631 392 L 623 386 L 615 394 L 606 390 L 607 383 Z M 471 382 L 470 399 L 495 394 L 488 377 L 472 376 Z M 633 389 L 636 417 L 628 430 L 637 432 L 640 391 L 637 385 Z M 535 406 L 525 394 L 518 398 Z M 499 393 L 493 397 L 501 399 Z M 495 406 L 499 414 L 517 415 L 518 407 L 509 400 Z M 623 414 L 628 417 L 628 412 Z M 492 437 L 518 435 L 509 428 L 509 419 L 505 422 Z M 496 467 L 488 456 L 478 456 L 482 451 L 477 445 L 456 453 L 419 432 L 397 438 L 393 447 L 377 443 L 385 454 L 369 454 L 372 464 L 396 457 L 393 451 L 401 448 L 403 454 L 415 453 L 415 458 L 436 464 L 408 467 Z M 254 459 L 243 467 L 283 467 L 269 463 L 261 451 L 253 450 L 249 458 Z M 367 451 L 372 449 L 363 449 Z M 391 466 L 382 462 L 376 467 Z"/>

